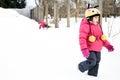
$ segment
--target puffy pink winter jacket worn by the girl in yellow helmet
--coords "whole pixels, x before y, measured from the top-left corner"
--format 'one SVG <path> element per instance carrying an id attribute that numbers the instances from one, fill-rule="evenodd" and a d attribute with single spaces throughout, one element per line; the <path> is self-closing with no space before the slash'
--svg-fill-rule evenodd
<path id="1" fill-rule="evenodd" d="M 88 41 L 88 37 L 91 36 L 91 33 L 93 36 L 96 37 L 95 42 Z M 101 40 L 101 35 L 102 35 L 102 30 L 99 24 L 95 25 L 92 22 L 90 22 L 89 24 L 86 18 L 82 19 L 79 30 L 79 44 L 81 50 L 87 48 L 89 51 L 100 52 L 103 46 L 110 45 L 110 43 L 107 40 L 105 41 Z"/>

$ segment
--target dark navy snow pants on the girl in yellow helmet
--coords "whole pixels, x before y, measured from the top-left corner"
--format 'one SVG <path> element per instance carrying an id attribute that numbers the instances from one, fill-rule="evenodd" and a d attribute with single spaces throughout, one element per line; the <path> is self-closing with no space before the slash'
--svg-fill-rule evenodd
<path id="1" fill-rule="evenodd" d="M 81 72 L 88 70 L 88 75 L 97 76 L 100 59 L 100 52 L 90 51 L 90 55 L 87 60 L 80 62 L 78 64 L 78 68 Z"/>

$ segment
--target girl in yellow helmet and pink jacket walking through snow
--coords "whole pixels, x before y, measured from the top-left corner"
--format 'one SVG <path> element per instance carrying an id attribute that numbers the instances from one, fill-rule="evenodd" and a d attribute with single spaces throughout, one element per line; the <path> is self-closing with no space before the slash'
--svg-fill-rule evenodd
<path id="1" fill-rule="evenodd" d="M 85 17 L 80 24 L 79 43 L 86 60 L 80 62 L 78 68 L 81 72 L 88 70 L 88 75 L 97 76 L 102 47 L 105 46 L 109 52 L 114 48 L 106 40 L 99 24 L 100 11 L 96 8 L 89 8 L 85 12 Z"/>

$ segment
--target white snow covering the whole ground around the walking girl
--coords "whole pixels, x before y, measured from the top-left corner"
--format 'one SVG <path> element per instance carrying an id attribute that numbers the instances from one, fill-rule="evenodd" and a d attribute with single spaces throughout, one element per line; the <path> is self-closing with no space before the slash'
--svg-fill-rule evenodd
<path id="1" fill-rule="evenodd" d="M 117 31 L 119 19 L 113 24 Z M 78 42 L 80 20 L 71 18 L 70 28 L 62 19 L 60 28 L 39 30 L 34 20 L 0 8 L 0 80 L 120 80 L 120 34 L 108 38 L 115 51 L 103 48 L 98 77 L 78 70 L 78 63 L 85 60 Z M 105 33 L 108 22 L 103 20 Z"/>

